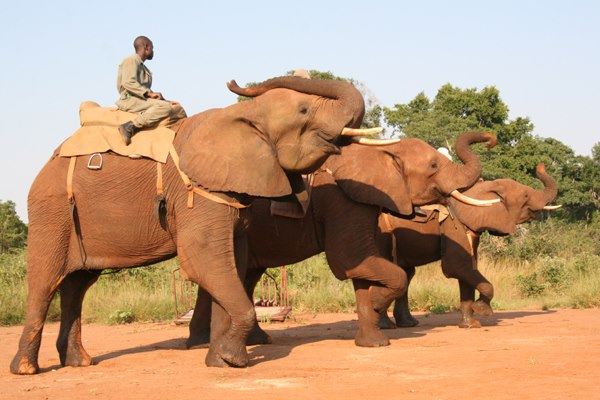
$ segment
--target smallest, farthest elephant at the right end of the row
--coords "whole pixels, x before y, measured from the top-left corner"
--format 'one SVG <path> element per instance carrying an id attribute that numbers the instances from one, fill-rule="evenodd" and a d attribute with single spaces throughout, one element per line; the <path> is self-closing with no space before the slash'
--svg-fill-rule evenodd
<path id="1" fill-rule="evenodd" d="M 491 207 L 477 208 L 449 199 L 447 206 L 450 216 L 442 222 L 436 215 L 417 222 L 415 219 L 382 214 L 377 239 L 380 251 L 393 258 L 406 271 L 409 284 L 415 267 L 441 260 L 444 275 L 457 279 L 459 283 L 459 327 L 479 328 L 481 324 L 473 317 L 473 312 L 490 315 L 490 302 L 494 295 L 492 284 L 477 270 L 479 235 L 485 231 L 498 236 L 513 234 L 517 225 L 534 219 L 539 212 L 559 207 L 548 205 L 554 201 L 558 190 L 543 164 L 537 165 L 536 175 L 544 184 L 543 190 L 533 189 L 513 179 L 477 182 L 465 194 L 480 199 L 500 198 L 502 201 Z M 475 290 L 480 293 L 477 301 Z M 393 315 L 395 324 L 389 319 L 387 310 L 383 312 L 380 327 L 411 327 L 418 324 L 410 314 L 408 292 L 396 300 Z"/>

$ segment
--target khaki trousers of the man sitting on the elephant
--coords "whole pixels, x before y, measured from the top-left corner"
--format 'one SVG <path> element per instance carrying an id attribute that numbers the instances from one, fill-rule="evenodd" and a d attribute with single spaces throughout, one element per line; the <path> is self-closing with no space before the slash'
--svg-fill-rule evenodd
<path id="1" fill-rule="evenodd" d="M 130 96 L 127 99 L 119 99 L 117 107 L 123 111 L 136 113 L 137 117 L 132 122 L 138 128 L 156 126 L 165 118 L 176 121 L 186 117 L 181 105 L 165 100 L 140 99 Z"/>

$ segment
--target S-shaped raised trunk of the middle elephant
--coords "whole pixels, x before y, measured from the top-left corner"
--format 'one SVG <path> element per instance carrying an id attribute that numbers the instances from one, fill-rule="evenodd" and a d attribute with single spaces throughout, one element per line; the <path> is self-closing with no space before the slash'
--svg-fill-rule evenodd
<path id="1" fill-rule="evenodd" d="M 455 151 L 464 165 L 453 164 L 448 169 L 447 179 L 442 179 L 440 188 L 445 194 L 453 190 L 463 190 L 473 186 L 481 176 L 481 162 L 469 147 L 475 143 L 487 142 L 487 147 L 496 145 L 496 136 L 489 132 L 466 132 L 456 140 Z"/>

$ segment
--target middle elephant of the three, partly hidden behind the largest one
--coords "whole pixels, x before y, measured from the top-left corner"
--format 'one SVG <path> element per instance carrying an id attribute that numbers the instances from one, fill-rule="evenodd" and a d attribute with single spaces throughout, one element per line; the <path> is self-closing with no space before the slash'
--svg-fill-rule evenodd
<path id="1" fill-rule="evenodd" d="M 248 228 L 250 249 L 246 289 L 249 297 L 265 268 L 304 260 L 325 251 L 338 279 L 352 279 L 357 299 L 359 346 L 384 346 L 388 338 L 379 330 L 379 312 L 406 290 L 401 268 L 382 256 L 376 244 L 380 210 L 411 215 L 413 207 L 442 201 L 457 189 L 473 185 L 481 165 L 471 152 L 472 143 L 495 144 L 488 133 L 469 132 L 459 137 L 456 151 L 464 165 L 452 163 L 418 139 L 403 139 L 388 146 L 344 147 L 330 157 L 314 176 L 310 207 L 302 219 L 272 216 L 268 201 L 255 202 Z M 199 289 L 190 323 L 188 347 L 212 342 L 220 316 L 210 296 Z M 212 331 L 211 331 L 212 329 Z M 269 343 L 258 324 L 249 344 Z"/>

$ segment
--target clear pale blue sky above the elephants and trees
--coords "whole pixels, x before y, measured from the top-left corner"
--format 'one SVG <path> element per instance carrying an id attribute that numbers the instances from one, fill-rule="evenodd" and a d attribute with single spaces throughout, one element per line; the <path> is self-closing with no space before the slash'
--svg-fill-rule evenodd
<path id="1" fill-rule="evenodd" d="M 31 182 L 78 128 L 78 106 L 116 100 L 131 42 L 154 41 L 154 87 L 188 114 L 231 104 L 225 82 L 303 67 L 364 82 L 382 105 L 444 83 L 495 85 L 511 118 L 589 155 L 600 141 L 596 1 L 19 1 L 0 11 L 0 199 L 26 220 Z"/>

